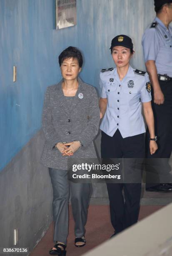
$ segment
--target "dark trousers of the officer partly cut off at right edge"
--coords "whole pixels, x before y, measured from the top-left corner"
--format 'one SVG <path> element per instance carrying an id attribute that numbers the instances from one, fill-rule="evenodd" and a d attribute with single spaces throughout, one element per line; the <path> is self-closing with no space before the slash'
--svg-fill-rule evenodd
<path id="1" fill-rule="evenodd" d="M 158 150 L 155 154 L 150 154 L 149 138 L 150 134 L 146 132 L 146 187 L 152 187 L 157 183 L 170 183 L 169 158 L 172 152 L 172 81 L 159 81 L 161 90 L 165 96 L 164 104 L 157 105 L 153 102 L 152 109 L 155 118 L 155 135 L 157 135 Z M 152 160 L 151 160 L 152 159 Z M 155 159 L 155 160 L 154 160 Z M 157 175 L 154 175 L 157 174 Z"/>

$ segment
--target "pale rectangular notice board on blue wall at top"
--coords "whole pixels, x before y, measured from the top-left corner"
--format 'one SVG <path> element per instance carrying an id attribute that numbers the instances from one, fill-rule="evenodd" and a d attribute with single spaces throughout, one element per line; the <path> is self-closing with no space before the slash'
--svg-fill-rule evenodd
<path id="1" fill-rule="evenodd" d="M 77 24 L 77 0 L 56 0 L 56 29 Z"/>

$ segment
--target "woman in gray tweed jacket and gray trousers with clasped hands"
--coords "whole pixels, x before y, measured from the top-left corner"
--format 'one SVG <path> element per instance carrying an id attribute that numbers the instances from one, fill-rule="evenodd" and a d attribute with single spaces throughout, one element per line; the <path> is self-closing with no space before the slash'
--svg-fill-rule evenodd
<path id="1" fill-rule="evenodd" d="M 82 54 L 68 47 L 59 56 L 63 80 L 47 87 L 42 113 L 45 147 L 41 162 L 49 167 L 53 188 L 55 246 L 51 255 L 66 255 L 68 235 L 68 201 L 71 192 L 75 220 L 75 246 L 84 246 L 87 208 L 91 184 L 73 183 L 67 179 L 68 158 L 96 158 L 93 139 L 100 120 L 97 93 L 94 87 L 78 77 Z"/>

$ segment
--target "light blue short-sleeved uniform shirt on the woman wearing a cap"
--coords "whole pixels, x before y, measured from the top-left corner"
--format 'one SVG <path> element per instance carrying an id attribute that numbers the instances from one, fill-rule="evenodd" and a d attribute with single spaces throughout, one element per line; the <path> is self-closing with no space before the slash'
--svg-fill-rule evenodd
<path id="1" fill-rule="evenodd" d="M 148 92 L 150 86 L 147 88 L 150 80 L 146 72 L 135 74 L 134 71 L 130 66 L 122 81 L 116 68 L 100 72 L 100 97 L 107 98 L 100 129 L 111 137 L 117 129 L 123 138 L 145 133 L 141 102 L 152 99 Z"/>

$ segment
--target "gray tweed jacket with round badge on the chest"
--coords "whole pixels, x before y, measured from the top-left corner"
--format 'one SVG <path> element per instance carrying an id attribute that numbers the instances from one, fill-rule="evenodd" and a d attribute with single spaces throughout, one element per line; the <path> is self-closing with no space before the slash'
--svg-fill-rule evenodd
<path id="1" fill-rule="evenodd" d="M 79 87 L 71 109 L 65 104 L 62 81 L 47 87 L 42 113 L 45 146 L 41 163 L 55 169 L 67 169 L 67 159 L 96 158 L 93 139 L 98 133 L 100 111 L 94 87 L 78 78 Z M 83 97 L 82 97 L 83 96 Z M 57 142 L 78 140 L 82 143 L 73 156 L 62 156 L 53 148 Z"/>

